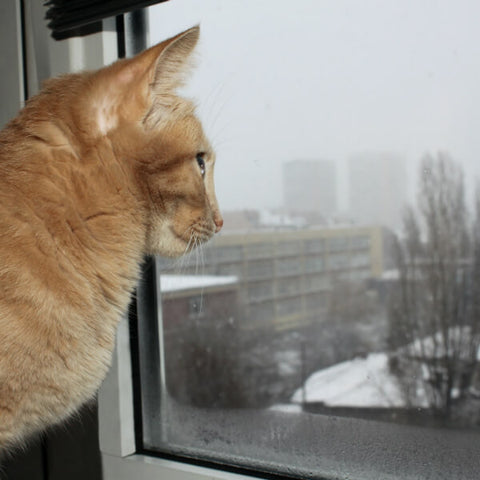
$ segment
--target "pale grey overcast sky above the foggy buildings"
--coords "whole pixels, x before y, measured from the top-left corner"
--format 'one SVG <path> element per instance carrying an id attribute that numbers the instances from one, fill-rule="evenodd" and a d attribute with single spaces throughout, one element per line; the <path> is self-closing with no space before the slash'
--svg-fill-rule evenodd
<path id="1" fill-rule="evenodd" d="M 388 151 L 412 171 L 447 150 L 480 173 L 476 0 L 171 0 L 150 12 L 151 43 L 201 26 L 186 92 L 216 147 L 225 210 L 280 206 L 282 163 L 299 158 L 344 173 L 352 154 Z"/>

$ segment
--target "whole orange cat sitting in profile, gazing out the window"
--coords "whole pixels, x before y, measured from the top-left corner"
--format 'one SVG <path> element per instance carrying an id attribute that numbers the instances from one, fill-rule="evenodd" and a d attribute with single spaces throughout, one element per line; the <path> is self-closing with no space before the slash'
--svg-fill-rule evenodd
<path id="1" fill-rule="evenodd" d="M 175 95 L 198 35 L 49 80 L 0 132 L 0 450 L 95 394 L 142 257 L 222 226 L 214 154 Z"/>

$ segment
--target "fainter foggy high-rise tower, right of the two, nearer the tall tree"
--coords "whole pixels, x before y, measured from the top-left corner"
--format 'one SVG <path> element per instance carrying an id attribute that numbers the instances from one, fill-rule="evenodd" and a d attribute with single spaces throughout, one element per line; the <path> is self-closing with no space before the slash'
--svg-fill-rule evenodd
<path id="1" fill-rule="evenodd" d="M 348 161 L 350 215 L 360 225 L 401 226 L 407 198 L 405 160 L 394 153 L 361 153 Z"/>

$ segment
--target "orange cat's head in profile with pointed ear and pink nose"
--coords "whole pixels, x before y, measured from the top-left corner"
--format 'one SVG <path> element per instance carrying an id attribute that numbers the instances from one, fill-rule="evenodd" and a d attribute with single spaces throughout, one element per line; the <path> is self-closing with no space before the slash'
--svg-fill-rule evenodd
<path id="1" fill-rule="evenodd" d="M 214 190 L 215 154 L 193 104 L 176 93 L 199 36 L 194 27 L 95 75 L 99 135 L 133 165 L 143 196 L 146 252 L 178 256 L 223 225 Z"/>

